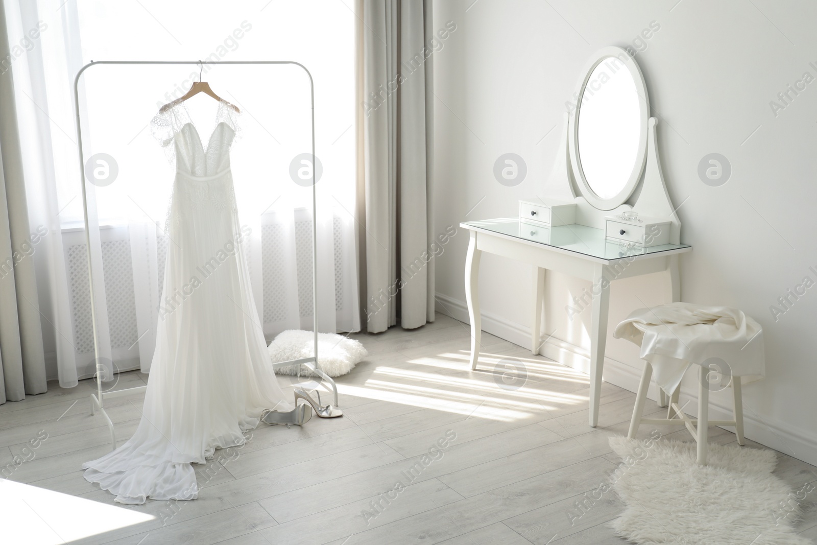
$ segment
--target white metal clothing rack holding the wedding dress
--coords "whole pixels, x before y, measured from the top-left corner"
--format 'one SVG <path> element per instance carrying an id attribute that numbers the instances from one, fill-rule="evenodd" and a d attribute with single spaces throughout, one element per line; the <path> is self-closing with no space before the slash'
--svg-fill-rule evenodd
<path id="1" fill-rule="evenodd" d="M 74 109 L 76 113 L 77 124 L 77 147 L 79 157 L 79 176 L 83 187 L 83 217 L 85 220 L 85 243 L 87 250 L 88 261 L 88 281 L 91 288 L 91 322 L 94 337 L 94 358 L 96 363 L 96 394 L 90 395 L 91 413 L 96 414 L 100 411 L 105 421 L 108 423 L 110 429 L 111 449 L 116 449 L 116 432 L 114 430 L 114 422 L 111 421 L 108 413 L 105 412 L 105 400 L 115 397 L 122 397 L 125 395 L 133 395 L 144 392 L 147 386 L 137 386 L 135 388 L 127 388 L 125 390 L 116 391 L 102 391 L 102 377 L 100 373 L 99 364 L 99 341 L 96 335 L 96 307 L 94 303 L 94 274 L 91 257 L 91 230 L 88 223 L 88 201 L 86 194 L 85 179 L 85 161 L 83 157 L 83 136 L 82 123 L 79 109 L 79 78 L 85 70 L 96 65 L 295 65 L 300 66 L 301 69 L 309 76 L 310 83 L 310 106 L 311 106 L 311 123 L 312 123 L 312 159 L 315 161 L 315 82 L 312 79 L 309 69 L 301 63 L 294 60 L 97 60 L 91 61 L 84 65 L 77 75 L 74 77 Z M 301 365 L 310 369 L 313 373 L 324 379 L 330 386 L 332 386 L 335 405 L 337 406 L 337 384 L 332 377 L 324 373 L 318 364 L 318 229 L 317 229 L 317 207 L 315 203 L 315 165 L 312 168 L 312 328 L 313 328 L 313 343 L 314 351 L 312 356 L 300 358 L 298 360 L 283 361 L 272 364 L 273 368 L 286 367 L 288 365 L 297 365 L 298 374 L 301 376 Z"/>

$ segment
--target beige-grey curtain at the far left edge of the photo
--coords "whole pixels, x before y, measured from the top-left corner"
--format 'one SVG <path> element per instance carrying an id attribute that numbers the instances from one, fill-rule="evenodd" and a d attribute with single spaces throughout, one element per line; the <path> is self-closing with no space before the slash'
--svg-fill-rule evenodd
<path id="1" fill-rule="evenodd" d="M 0 60 L 11 59 L 0 2 Z M 0 65 L 0 403 L 47 390 L 31 229 L 10 62 Z"/>

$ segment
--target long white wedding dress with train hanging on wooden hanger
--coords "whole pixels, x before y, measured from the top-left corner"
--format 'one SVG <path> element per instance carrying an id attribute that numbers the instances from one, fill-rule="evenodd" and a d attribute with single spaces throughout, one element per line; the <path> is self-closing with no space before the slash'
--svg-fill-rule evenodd
<path id="1" fill-rule="evenodd" d="M 292 409 L 270 366 L 243 254 L 230 173 L 235 116 L 219 103 L 206 150 L 183 104 L 152 122 L 176 163 L 156 350 L 136 433 L 83 464 L 85 478 L 119 503 L 196 498 L 191 463 L 244 444 L 262 410 Z"/>

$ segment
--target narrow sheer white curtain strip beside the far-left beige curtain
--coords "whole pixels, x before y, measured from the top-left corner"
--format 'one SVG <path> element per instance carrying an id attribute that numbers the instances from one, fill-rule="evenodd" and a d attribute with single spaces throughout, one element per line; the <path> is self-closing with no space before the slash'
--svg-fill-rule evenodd
<path id="1" fill-rule="evenodd" d="M 77 360 L 60 208 L 74 199 L 63 189 L 68 182 L 78 187 L 76 159 L 71 160 L 76 156 L 73 109 L 65 92 L 69 72 L 78 69 L 66 55 L 69 47 L 77 48 L 68 41 L 77 21 L 71 11 L 41 8 L 38 2 L 5 0 L 11 45 L 7 63 L 14 82 L 29 222 L 47 229 L 31 256 L 43 316 L 47 377 L 59 377 L 60 386 L 68 387 L 77 384 Z"/>

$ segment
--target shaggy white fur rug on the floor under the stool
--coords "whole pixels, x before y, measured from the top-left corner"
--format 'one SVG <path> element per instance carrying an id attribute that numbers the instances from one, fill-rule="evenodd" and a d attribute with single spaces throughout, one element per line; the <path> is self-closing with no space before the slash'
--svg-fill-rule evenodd
<path id="1" fill-rule="evenodd" d="M 810 545 L 792 528 L 794 491 L 771 472 L 772 450 L 709 444 L 699 466 L 694 443 L 612 437 L 623 462 L 611 480 L 627 504 L 614 529 L 644 545 Z M 802 499 L 802 498 L 800 498 Z"/>

